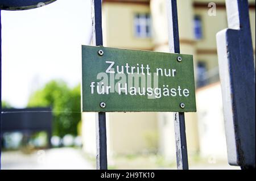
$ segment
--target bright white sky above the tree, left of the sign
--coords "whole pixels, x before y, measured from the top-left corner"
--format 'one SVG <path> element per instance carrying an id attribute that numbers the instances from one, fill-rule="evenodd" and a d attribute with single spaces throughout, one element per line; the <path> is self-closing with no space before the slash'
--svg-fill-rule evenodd
<path id="1" fill-rule="evenodd" d="M 52 79 L 81 82 L 81 45 L 92 36 L 90 0 L 58 0 L 2 14 L 2 100 L 16 108 Z"/>

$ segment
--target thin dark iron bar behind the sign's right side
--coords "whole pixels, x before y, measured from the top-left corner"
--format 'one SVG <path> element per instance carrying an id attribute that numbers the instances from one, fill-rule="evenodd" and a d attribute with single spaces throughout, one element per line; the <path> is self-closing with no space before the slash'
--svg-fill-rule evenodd
<path id="1" fill-rule="evenodd" d="M 167 0 L 169 48 L 171 53 L 180 53 L 179 26 L 176 0 Z M 187 140 L 184 112 L 174 113 L 177 169 L 188 170 Z"/>

